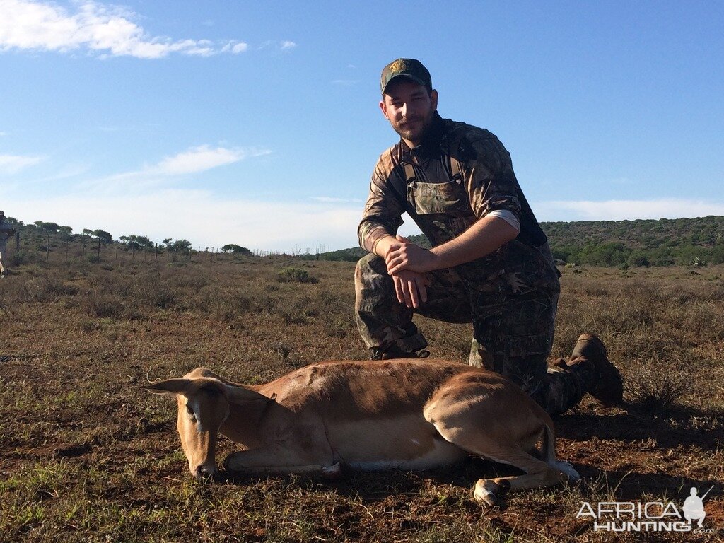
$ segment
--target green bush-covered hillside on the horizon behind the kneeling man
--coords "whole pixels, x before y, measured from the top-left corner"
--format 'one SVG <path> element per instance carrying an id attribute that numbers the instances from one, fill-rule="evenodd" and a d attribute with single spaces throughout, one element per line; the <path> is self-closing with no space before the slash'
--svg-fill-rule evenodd
<path id="1" fill-rule="evenodd" d="M 565 266 L 703 266 L 724 264 L 724 216 L 696 219 L 543 222 L 551 251 Z M 410 240 L 429 247 L 424 235 Z M 361 248 L 323 253 L 324 260 L 356 261 Z"/>

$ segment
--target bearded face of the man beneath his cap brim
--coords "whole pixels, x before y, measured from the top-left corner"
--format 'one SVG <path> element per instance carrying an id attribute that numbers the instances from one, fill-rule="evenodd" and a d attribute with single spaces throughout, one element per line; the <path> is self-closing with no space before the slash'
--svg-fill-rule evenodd
<path id="1" fill-rule="evenodd" d="M 437 110 L 437 90 L 428 93 L 424 85 L 407 77 L 397 77 L 387 85 L 379 102 L 384 118 L 408 146 L 421 141 Z"/>

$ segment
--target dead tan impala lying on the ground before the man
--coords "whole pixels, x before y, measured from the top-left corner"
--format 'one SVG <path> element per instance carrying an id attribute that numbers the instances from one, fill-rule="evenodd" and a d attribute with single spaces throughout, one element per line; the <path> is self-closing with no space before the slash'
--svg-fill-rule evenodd
<path id="1" fill-rule="evenodd" d="M 195 477 L 217 473 L 221 433 L 243 447 L 224 461 L 235 473 L 424 470 L 467 454 L 525 472 L 479 479 L 473 495 L 487 505 L 508 487 L 578 480 L 571 464 L 555 459 L 550 416 L 502 376 L 462 363 L 330 361 L 253 386 L 197 368 L 146 388 L 176 395 Z"/>

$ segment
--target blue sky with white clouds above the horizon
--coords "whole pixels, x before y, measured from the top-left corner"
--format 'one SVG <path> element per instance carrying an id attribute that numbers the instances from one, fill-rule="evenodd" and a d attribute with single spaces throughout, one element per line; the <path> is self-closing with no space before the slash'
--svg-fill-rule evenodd
<path id="1" fill-rule="evenodd" d="M 354 246 L 399 56 L 502 140 L 541 221 L 724 215 L 721 1 L 0 0 L 0 209 Z"/>

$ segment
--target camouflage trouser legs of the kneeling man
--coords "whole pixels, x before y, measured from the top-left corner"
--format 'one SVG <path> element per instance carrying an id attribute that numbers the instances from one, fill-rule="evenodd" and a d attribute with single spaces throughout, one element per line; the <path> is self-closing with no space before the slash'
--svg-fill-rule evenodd
<path id="1" fill-rule="evenodd" d="M 471 322 L 468 363 L 472 366 L 507 377 L 552 415 L 581 401 L 594 379 L 592 365 L 547 366 L 560 292 L 557 276 L 544 287 L 529 289 L 516 289 L 520 285 L 515 279 L 510 292 L 500 285 L 463 279 L 455 268 L 432 271 L 428 278 L 427 301 L 408 308 L 397 300 L 382 258 L 369 254 L 358 262 L 355 318 L 363 341 L 374 353 L 425 348 L 427 340 L 413 322 L 415 313 L 446 322 Z"/>

